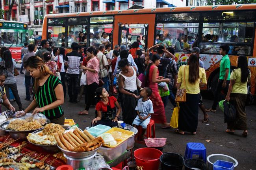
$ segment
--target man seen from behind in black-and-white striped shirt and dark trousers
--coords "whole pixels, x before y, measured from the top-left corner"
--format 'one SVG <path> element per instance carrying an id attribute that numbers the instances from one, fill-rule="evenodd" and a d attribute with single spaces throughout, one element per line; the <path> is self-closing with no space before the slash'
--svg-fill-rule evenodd
<path id="1" fill-rule="evenodd" d="M 82 66 L 83 57 L 78 53 L 78 43 L 71 44 L 72 52 L 65 56 L 65 66 L 67 67 L 67 86 L 69 102 L 77 103 L 77 95 L 80 85 L 79 67 Z"/>

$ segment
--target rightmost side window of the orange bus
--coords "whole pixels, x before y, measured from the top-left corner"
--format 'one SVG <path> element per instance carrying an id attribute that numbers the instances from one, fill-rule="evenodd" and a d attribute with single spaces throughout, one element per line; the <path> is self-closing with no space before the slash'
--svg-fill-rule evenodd
<path id="1" fill-rule="evenodd" d="M 253 22 L 204 23 L 201 52 L 219 53 L 220 44 L 214 43 L 228 43 L 230 55 L 250 55 L 253 26 Z"/>

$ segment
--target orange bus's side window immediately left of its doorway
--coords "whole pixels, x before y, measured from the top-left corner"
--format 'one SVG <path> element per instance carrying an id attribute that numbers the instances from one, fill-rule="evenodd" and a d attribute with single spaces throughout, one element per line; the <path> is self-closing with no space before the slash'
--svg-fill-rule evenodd
<path id="1" fill-rule="evenodd" d="M 90 27 L 90 46 L 95 46 L 96 48 L 100 45 L 105 45 L 106 43 L 111 43 L 113 25 L 91 25 Z"/>

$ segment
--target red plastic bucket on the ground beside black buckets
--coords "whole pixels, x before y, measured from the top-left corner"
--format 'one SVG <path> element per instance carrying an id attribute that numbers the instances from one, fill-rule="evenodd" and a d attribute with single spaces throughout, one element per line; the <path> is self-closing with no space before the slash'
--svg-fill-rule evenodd
<path id="1" fill-rule="evenodd" d="M 154 148 L 139 148 L 134 151 L 136 165 L 143 166 L 143 170 L 158 170 L 162 154 Z"/>

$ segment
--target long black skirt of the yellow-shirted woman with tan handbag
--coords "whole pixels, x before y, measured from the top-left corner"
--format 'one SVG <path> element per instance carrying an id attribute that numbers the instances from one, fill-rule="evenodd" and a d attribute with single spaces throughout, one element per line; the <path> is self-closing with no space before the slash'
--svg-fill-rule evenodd
<path id="1" fill-rule="evenodd" d="M 198 123 L 199 94 L 188 94 L 186 102 L 180 103 L 178 129 L 185 132 L 196 132 Z"/>

